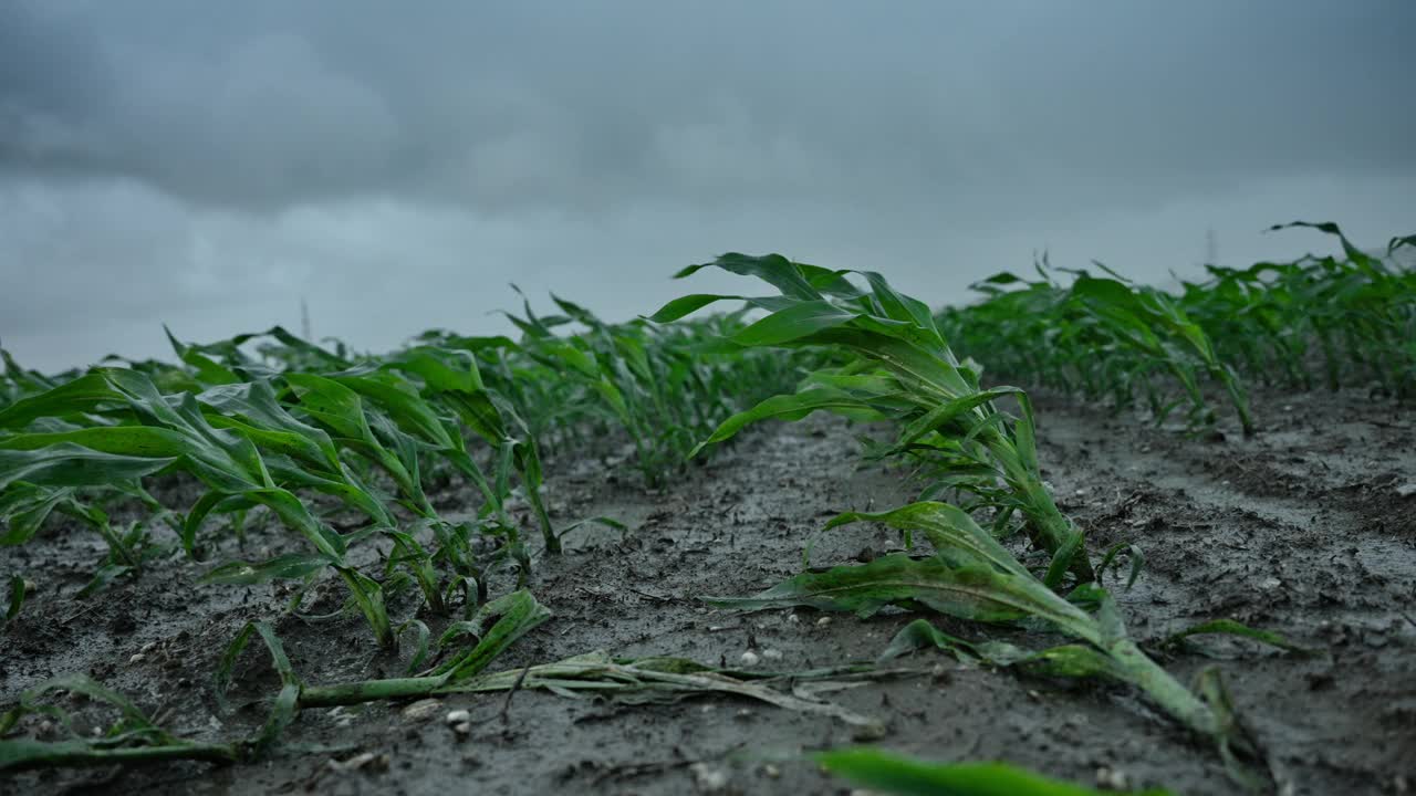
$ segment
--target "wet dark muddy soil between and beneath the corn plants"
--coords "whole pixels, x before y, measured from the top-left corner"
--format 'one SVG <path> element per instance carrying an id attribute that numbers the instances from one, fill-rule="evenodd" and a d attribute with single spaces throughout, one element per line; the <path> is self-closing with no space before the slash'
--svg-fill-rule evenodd
<path id="1" fill-rule="evenodd" d="M 1416 496 L 1403 497 L 1402 489 L 1416 482 L 1416 412 L 1357 392 L 1260 394 L 1262 431 L 1245 439 L 1236 429 L 1191 438 L 1061 399 L 1037 402 L 1045 476 L 1063 511 L 1087 530 L 1093 557 L 1119 541 L 1146 554 L 1136 586 L 1113 586 L 1133 636 L 1154 642 L 1233 618 L 1317 650 L 1301 657 L 1201 637 L 1192 649 L 1157 653 L 1185 681 L 1206 664 L 1222 670 L 1279 792 L 1416 790 Z M 607 514 L 630 530 L 623 537 L 578 531 L 564 557 L 539 561 L 532 589 L 555 616 L 493 667 L 590 650 L 732 666 L 752 650 L 763 659 L 759 667 L 780 670 L 874 660 L 915 616 L 736 615 L 695 601 L 752 593 L 793 575 L 813 537 L 814 565 L 898 547 L 898 538 L 871 525 L 820 533 L 837 511 L 882 510 L 912 497 L 902 472 L 857 467 L 858 431 L 833 418 L 762 426 L 658 493 L 644 491 L 615 462 L 555 463 L 547 497 L 559 521 Z M 440 506 L 456 508 L 466 499 L 445 494 Z M 270 530 L 253 535 L 244 554 L 232 547 L 214 558 L 279 552 L 280 538 Z M 195 586 L 202 565 L 174 558 L 98 599 L 74 599 L 99 555 L 96 535 L 62 524 L 24 548 L 0 551 L 0 574 L 23 572 L 38 586 L 0 636 L 0 705 L 55 674 L 86 671 L 180 734 L 227 739 L 259 722 L 259 705 L 217 718 L 211 673 L 246 620 L 280 615 L 285 592 Z M 331 589 L 316 608 L 337 608 L 338 599 Z M 936 625 L 971 639 L 986 633 L 949 619 Z M 306 683 L 402 671 L 402 661 L 374 654 L 358 619 L 285 618 L 278 630 Z M 140 653 L 146 644 L 153 646 Z M 242 659 L 239 695 L 275 693 L 263 654 L 252 649 Z M 1025 678 L 935 652 L 903 664 L 919 674 L 830 695 L 882 720 L 886 734 L 878 742 L 891 749 L 943 761 L 1004 759 L 1083 783 L 1110 769 L 1133 786 L 1236 792 L 1214 749 L 1131 688 Z M 799 758 L 852 742 L 850 725 L 760 703 L 700 697 L 620 705 L 521 691 L 510 701 L 506 694 L 453 695 L 430 718 L 411 718 L 405 707 L 306 711 L 289 729 L 285 752 L 256 763 L 25 772 L 0 779 L 0 790 L 851 790 Z M 442 721 L 455 708 L 472 712 L 466 739 Z M 387 755 L 387 769 L 330 765 L 365 751 Z"/>

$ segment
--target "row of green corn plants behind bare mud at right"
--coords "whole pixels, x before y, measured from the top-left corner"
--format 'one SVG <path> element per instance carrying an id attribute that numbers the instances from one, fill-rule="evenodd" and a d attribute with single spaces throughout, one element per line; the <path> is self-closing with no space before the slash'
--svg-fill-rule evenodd
<path id="1" fill-rule="evenodd" d="M 1335 224 L 1293 222 L 1334 237 L 1338 255 L 1205 268 L 1174 293 L 1097 269 L 1035 263 L 1035 279 L 1000 272 L 973 286 L 981 299 L 939 314 L 959 351 L 1000 377 L 1144 405 L 1157 423 L 1177 409 L 1185 425 L 1216 422 L 1208 387 L 1226 398 L 1245 433 L 1255 429 L 1245 380 L 1289 390 L 1374 385 L 1416 391 L 1416 272 L 1398 262 L 1416 237 L 1385 256 L 1355 246 Z"/>

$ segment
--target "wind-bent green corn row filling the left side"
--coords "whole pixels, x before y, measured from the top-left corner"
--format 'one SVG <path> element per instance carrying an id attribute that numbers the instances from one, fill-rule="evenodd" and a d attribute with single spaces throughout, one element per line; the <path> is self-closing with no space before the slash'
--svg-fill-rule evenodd
<path id="1" fill-rule="evenodd" d="M 442 613 L 453 586 L 476 593 L 464 596 L 469 606 L 486 599 L 489 565 L 510 561 L 525 584 L 531 552 L 508 511 L 514 482 L 541 547 L 559 551 L 564 530 L 551 527 L 541 497 L 538 440 L 578 445 L 617 428 L 644 482 L 657 486 L 685 466 L 708 429 L 794 373 L 782 357 L 711 350 L 725 329 L 743 326 L 741 317 L 674 329 L 607 324 L 555 302 L 564 314 L 538 317 L 527 303 L 524 319 L 513 316 L 520 341 L 429 331 L 381 357 L 354 356 L 337 341 L 316 346 L 279 327 L 210 344 L 169 333 L 177 364 L 110 356 L 103 367 L 57 377 L 4 353 L 0 544 L 25 542 L 52 514 L 92 527 L 109 555 L 89 595 L 171 552 L 174 545 L 154 541 L 154 528 L 170 525 L 191 555 L 208 518 L 225 516 L 242 535 L 248 514 L 263 507 L 309 551 L 229 562 L 207 579 L 309 581 L 330 567 L 379 644 L 391 646 L 389 588 L 416 585 Z M 571 323 L 581 331 L 554 331 Z M 167 508 L 143 487 L 173 472 L 205 487 L 191 507 Z M 481 496 L 474 521 L 446 521 L 426 494 L 425 483 L 459 479 Z M 323 501 L 319 511 L 312 496 Z M 150 514 L 115 527 L 105 508 L 135 499 Z M 340 511 L 362 523 L 334 531 L 324 516 Z M 368 538 L 394 547 L 382 576 L 348 561 L 347 545 Z"/>

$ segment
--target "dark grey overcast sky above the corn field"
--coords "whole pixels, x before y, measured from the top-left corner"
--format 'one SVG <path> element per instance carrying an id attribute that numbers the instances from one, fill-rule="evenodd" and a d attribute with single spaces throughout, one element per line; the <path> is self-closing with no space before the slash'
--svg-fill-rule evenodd
<path id="1" fill-rule="evenodd" d="M 0 341 L 384 350 L 777 251 L 932 303 L 1416 232 L 1410 0 L 0 0 Z M 736 290 L 735 290 L 736 292 Z"/>

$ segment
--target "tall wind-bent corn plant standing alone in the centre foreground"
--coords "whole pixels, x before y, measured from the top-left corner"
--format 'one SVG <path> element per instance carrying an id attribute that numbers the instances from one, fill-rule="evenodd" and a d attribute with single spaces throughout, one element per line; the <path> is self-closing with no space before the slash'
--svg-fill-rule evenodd
<path id="1" fill-rule="evenodd" d="M 1092 579 L 1082 531 L 1042 483 L 1027 394 L 1014 387 L 981 388 L 977 370 L 954 357 L 923 302 L 898 293 L 875 272 L 828 271 L 780 255 L 729 254 L 708 265 L 756 276 L 780 295 L 691 295 L 674 299 L 651 320 L 668 323 L 719 300 L 741 300 L 767 314 L 728 337 L 729 343 L 826 347 L 851 361 L 816 371 L 793 395 L 769 398 L 729 418 L 700 449 L 766 418 L 800 419 L 818 409 L 886 418 L 901 426 L 893 452 L 930 459 L 952 486 L 978 497 L 977 507 L 995 508 L 1000 527 L 1014 514 L 1024 518 L 1029 538 L 1054 555 L 1049 585 L 1059 584 L 1069 568 L 1079 579 Z M 675 276 L 701 268 L 707 265 Z M 847 273 L 864 276 L 869 289 L 858 289 Z M 995 401 L 1005 397 L 1017 401 L 1018 415 L 997 408 Z"/>

